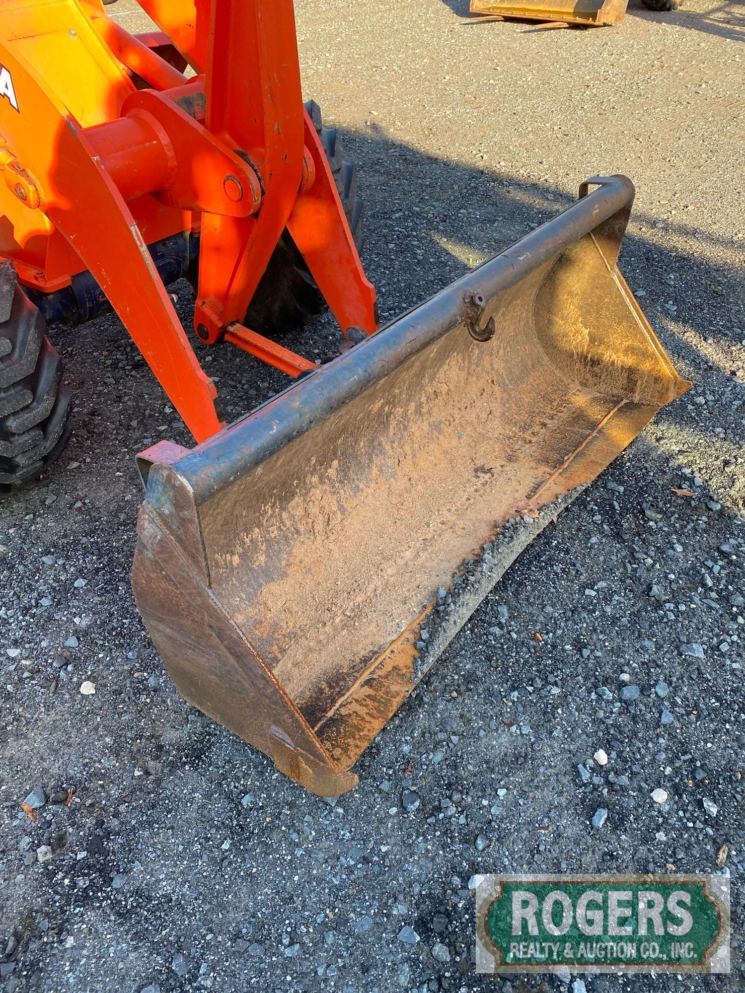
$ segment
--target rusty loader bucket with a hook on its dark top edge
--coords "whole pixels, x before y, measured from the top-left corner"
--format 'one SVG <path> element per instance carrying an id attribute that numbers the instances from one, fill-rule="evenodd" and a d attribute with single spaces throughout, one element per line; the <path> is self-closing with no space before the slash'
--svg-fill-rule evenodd
<path id="1" fill-rule="evenodd" d="M 324 796 L 676 374 L 623 177 L 202 445 L 140 457 L 132 581 L 179 691 Z"/>

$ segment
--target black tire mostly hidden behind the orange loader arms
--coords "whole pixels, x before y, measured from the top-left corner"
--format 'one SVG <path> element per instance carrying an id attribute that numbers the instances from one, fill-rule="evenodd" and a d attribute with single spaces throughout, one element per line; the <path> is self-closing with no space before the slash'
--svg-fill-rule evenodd
<path id="1" fill-rule="evenodd" d="M 321 108 L 305 104 L 331 164 L 339 197 L 358 248 L 363 241 L 363 202 L 357 196 L 357 169 L 345 162 L 336 128 L 323 126 Z M 261 335 L 276 337 L 308 324 L 326 309 L 326 301 L 311 276 L 303 256 L 285 230 L 245 315 L 246 327 Z"/>

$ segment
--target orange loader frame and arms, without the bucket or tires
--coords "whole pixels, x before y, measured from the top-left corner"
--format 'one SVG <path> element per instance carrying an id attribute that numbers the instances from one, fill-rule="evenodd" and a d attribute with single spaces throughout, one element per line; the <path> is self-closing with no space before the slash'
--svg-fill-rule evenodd
<path id="1" fill-rule="evenodd" d="M 243 326 L 285 229 L 345 335 L 375 291 L 300 88 L 292 0 L 0 0 L 0 255 L 52 293 L 88 272 L 198 442 L 224 428 L 148 245 L 199 234 L 194 327 L 293 377 L 315 363 Z M 182 69 L 192 68 L 187 77 Z"/>

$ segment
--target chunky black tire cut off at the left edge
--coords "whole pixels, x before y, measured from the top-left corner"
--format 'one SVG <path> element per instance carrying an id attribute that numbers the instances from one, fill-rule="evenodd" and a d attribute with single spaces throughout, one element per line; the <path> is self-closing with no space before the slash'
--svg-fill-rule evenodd
<path id="1" fill-rule="evenodd" d="M 0 492 L 33 480 L 70 437 L 63 363 L 39 310 L 0 262 Z"/>

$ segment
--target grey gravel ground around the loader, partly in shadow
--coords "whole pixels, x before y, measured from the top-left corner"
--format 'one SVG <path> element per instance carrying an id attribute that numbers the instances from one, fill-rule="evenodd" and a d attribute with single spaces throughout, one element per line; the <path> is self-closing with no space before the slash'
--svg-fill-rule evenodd
<path id="1" fill-rule="evenodd" d="M 142 29 L 128 3 L 108 9 Z M 188 436 L 116 320 L 56 333 L 74 438 L 3 503 L 0 538 L 0 989 L 556 990 L 568 976 L 475 974 L 473 874 L 711 872 L 726 842 L 719 871 L 735 881 L 741 12 L 632 0 L 621 27 L 575 31 L 474 24 L 464 0 L 300 0 L 304 91 L 363 166 L 384 318 L 586 176 L 624 172 L 639 196 L 622 268 L 694 386 L 528 547 L 333 804 L 175 693 L 129 588 L 133 455 Z M 295 345 L 338 341 L 322 320 Z M 282 384 L 198 348 L 228 416 Z M 19 803 L 35 789 L 32 823 Z M 732 895 L 730 977 L 586 977 L 587 990 L 742 989 L 737 883 Z"/>

